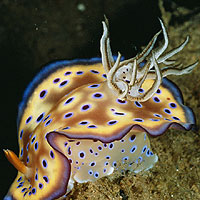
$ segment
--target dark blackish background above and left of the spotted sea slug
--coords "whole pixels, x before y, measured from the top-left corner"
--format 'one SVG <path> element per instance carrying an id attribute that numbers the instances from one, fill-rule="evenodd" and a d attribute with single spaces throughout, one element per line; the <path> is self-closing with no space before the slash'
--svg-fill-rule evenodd
<path id="1" fill-rule="evenodd" d="M 164 1 L 193 9 L 198 1 Z M 103 15 L 110 22 L 111 47 L 133 57 L 160 30 L 157 0 L 52 0 L 0 2 L 1 149 L 18 154 L 17 108 L 27 84 L 48 62 L 99 57 Z M 190 16 L 172 16 L 171 24 Z M 17 171 L 0 153 L 0 199 Z"/>

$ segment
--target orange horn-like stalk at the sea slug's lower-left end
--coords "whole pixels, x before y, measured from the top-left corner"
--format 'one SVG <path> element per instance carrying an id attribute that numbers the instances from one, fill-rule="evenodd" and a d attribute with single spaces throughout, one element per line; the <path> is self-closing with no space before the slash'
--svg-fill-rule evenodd
<path id="1" fill-rule="evenodd" d="M 30 168 L 24 165 L 24 163 L 16 156 L 16 154 L 9 150 L 3 149 L 4 154 L 8 161 L 21 173 L 23 173 L 26 177 L 30 177 Z"/>

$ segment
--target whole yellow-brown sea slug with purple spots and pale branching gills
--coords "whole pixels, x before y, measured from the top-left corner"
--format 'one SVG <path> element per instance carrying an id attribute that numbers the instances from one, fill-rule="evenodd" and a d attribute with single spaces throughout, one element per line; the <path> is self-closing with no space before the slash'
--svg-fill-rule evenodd
<path id="1" fill-rule="evenodd" d="M 168 128 L 189 130 L 192 110 L 183 105 L 178 87 L 165 78 L 191 72 L 169 60 L 162 30 L 134 58 L 113 58 L 108 22 L 103 22 L 102 59 L 56 61 L 30 83 L 18 113 L 19 157 L 4 150 L 18 174 L 4 198 L 58 199 L 74 182 L 95 181 L 116 170 L 138 173 L 157 162 L 148 134 Z M 154 48 L 163 33 L 164 44 Z"/>

